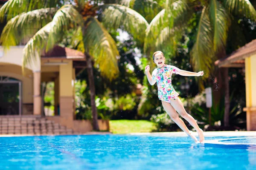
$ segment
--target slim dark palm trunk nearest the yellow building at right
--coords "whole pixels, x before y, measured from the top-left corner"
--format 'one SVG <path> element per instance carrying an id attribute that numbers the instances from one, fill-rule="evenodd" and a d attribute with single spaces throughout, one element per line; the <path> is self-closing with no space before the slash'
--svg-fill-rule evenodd
<path id="1" fill-rule="evenodd" d="M 228 68 L 224 68 L 224 88 L 225 88 L 225 111 L 224 111 L 224 126 L 229 126 L 229 111 L 230 111 L 230 94 L 229 94 L 229 78 Z"/>

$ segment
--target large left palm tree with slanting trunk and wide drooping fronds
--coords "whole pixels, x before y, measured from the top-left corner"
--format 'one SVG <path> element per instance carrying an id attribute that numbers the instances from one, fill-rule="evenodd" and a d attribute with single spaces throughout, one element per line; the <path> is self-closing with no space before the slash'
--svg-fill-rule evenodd
<path id="1" fill-rule="evenodd" d="M 23 49 L 22 68 L 31 65 L 42 50 L 51 50 L 65 32 L 75 30 L 72 43 L 87 59 L 94 130 L 99 130 L 99 126 L 92 60 L 102 76 L 110 80 L 119 73 L 119 52 L 108 29 L 122 27 L 136 40 L 143 41 L 148 26 L 144 17 L 133 9 L 109 2 L 111 0 L 9 0 L 0 8 L 0 20 L 7 21 L 0 38 L 2 45 L 8 48 L 30 38 Z"/>

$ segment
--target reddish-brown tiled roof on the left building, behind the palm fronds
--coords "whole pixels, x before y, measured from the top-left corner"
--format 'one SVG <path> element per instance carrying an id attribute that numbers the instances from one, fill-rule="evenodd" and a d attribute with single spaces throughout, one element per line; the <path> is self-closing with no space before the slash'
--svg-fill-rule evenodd
<path id="1" fill-rule="evenodd" d="M 42 58 L 67 58 L 67 59 L 85 59 L 85 55 L 81 51 L 77 51 L 67 47 L 55 45 L 51 51 L 41 54 Z"/>

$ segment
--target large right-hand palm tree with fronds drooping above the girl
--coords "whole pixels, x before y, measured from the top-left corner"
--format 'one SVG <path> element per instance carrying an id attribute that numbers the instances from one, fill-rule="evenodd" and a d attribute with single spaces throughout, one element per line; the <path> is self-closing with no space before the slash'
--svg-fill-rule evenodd
<path id="1" fill-rule="evenodd" d="M 123 0 L 124 4 L 134 7 L 139 0 Z M 150 0 L 149 0 L 150 1 Z M 158 2 L 161 2 L 160 0 Z M 209 75 L 214 70 L 214 61 L 226 56 L 225 48 L 227 34 L 231 23 L 236 22 L 234 16 L 247 17 L 256 21 L 256 10 L 249 0 L 166 0 L 164 6 L 146 29 L 144 51 L 151 54 L 162 46 L 175 45 L 179 33 L 193 13 L 201 14 L 195 43 L 190 52 L 191 62 L 195 71 L 204 70 Z M 143 8 L 136 10 L 143 11 Z M 149 8 L 150 9 L 150 8 Z M 144 10 L 145 11 L 145 10 Z M 151 16 L 152 12 L 149 14 Z M 228 68 L 223 72 L 218 69 L 218 76 L 224 76 L 224 81 L 218 80 L 225 88 L 224 126 L 229 126 L 229 81 Z M 203 81 L 208 76 L 200 78 L 199 88 L 203 89 Z"/>

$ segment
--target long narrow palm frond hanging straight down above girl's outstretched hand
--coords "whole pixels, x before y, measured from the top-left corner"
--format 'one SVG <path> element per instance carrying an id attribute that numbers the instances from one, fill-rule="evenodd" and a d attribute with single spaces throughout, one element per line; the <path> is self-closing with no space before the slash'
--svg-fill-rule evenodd
<path id="1" fill-rule="evenodd" d="M 198 23 L 195 44 L 191 51 L 191 60 L 195 71 L 204 71 L 206 75 L 212 68 L 212 28 L 208 9 L 203 8 Z"/>

